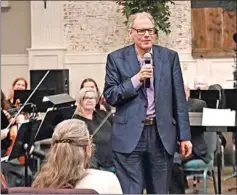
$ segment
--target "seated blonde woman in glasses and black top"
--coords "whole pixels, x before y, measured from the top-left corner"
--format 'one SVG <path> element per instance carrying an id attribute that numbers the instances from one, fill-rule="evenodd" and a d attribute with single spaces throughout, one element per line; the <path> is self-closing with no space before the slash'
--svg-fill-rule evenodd
<path id="1" fill-rule="evenodd" d="M 83 88 L 76 99 L 77 108 L 73 118 L 84 121 L 88 126 L 90 135 L 93 134 L 108 114 L 103 110 L 95 110 L 97 97 L 94 89 Z M 111 134 L 112 120 L 108 118 L 93 137 L 96 150 L 91 160 L 92 168 L 104 170 L 111 170 L 113 168 Z"/>

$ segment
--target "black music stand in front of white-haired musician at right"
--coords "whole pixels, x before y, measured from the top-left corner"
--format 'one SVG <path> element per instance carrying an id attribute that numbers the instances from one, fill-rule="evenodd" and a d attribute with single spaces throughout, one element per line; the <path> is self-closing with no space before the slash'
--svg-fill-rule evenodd
<path id="1" fill-rule="evenodd" d="M 190 98 L 204 100 L 208 108 L 216 108 L 219 96 L 218 90 L 190 90 Z"/>

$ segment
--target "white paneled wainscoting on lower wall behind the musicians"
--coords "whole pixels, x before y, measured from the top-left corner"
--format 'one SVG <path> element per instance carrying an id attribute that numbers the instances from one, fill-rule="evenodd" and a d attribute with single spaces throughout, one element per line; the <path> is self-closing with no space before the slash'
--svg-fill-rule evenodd
<path id="1" fill-rule="evenodd" d="M 233 58 L 192 58 L 190 52 L 178 52 L 181 69 L 185 81 L 192 83 L 197 75 L 204 75 L 209 83 L 220 83 L 223 87 L 233 86 Z M 16 71 L 28 74 L 31 69 L 59 69 L 70 70 L 70 82 L 80 83 L 80 78 L 95 77 L 102 86 L 105 63 L 108 53 L 67 53 L 62 48 L 37 48 L 31 49 L 27 54 L 3 54 L 1 55 L 2 67 L 8 71 Z M 24 69 L 23 69 L 24 67 Z M 93 68 L 94 67 L 94 68 Z M 94 69 L 95 72 L 93 72 Z M 28 70 L 28 71 L 27 71 Z M 24 73 L 23 73 L 23 72 Z M 7 75 L 2 75 L 7 79 Z M 75 93 L 76 84 L 71 85 L 72 93 Z"/>

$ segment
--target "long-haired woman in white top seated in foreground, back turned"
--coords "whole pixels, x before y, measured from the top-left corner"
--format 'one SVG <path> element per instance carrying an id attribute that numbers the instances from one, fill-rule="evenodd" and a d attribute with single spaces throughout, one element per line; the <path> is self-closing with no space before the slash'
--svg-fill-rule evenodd
<path id="1" fill-rule="evenodd" d="M 92 142 L 85 122 L 59 123 L 52 136 L 46 163 L 37 174 L 35 188 L 87 188 L 100 194 L 121 194 L 117 177 L 108 171 L 88 169 Z"/>

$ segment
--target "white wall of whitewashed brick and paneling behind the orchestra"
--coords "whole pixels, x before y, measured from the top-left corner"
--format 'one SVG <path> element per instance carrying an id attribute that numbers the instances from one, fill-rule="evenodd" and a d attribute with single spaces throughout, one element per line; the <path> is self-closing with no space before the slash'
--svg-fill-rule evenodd
<path id="1" fill-rule="evenodd" d="M 29 69 L 68 68 L 72 96 L 87 77 L 94 78 L 102 89 L 107 53 L 128 42 L 123 21 L 115 2 L 98 6 L 92 1 L 47 1 L 44 9 L 42 2 L 31 1 L 31 48 L 28 56 L 2 55 L 2 88 L 9 89 L 18 75 L 28 78 Z M 184 79 L 192 84 L 195 76 L 203 74 L 209 84 L 232 88 L 233 82 L 228 81 L 233 79 L 232 58 L 191 56 L 190 1 L 176 1 L 171 21 L 171 34 L 161 33 L 159 43 L 179 52 Z"/>

